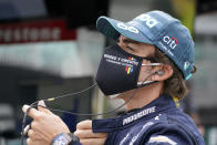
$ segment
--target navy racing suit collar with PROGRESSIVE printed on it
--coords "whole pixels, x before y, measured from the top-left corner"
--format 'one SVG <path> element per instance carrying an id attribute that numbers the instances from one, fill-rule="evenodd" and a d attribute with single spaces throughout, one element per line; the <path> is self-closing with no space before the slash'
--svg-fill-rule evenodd
<path id="1" fill-rule="evenodd" d="M 162 111 L 168 110 L 170 107 L 176 107 L 176 103 L 174 102 L 173 97 L 161 95 L 142 108 L 128 112 L 125 115 L 121 115 L 115 118 L 93 120 L 93 132 L 111 133 L 118 131 L 121 128 L 127 127 L 128 125 L 133 125 L 141 118 L 153 117 L 159 114 Z"/>

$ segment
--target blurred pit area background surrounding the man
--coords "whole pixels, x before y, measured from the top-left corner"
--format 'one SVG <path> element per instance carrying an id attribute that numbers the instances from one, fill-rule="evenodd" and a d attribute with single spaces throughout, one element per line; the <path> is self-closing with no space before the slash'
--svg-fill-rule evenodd
<path id="1" fill-rule="evenodd" d="M 197 73 L 187 82 L 190 93 L 182 106 L 207 145 L 217 145 L 216 0 L 0 0 L 0 145 L 20 144 L 23 104 L 94 83 L 102 52 L 111 43 L 95 30 L 100 15 L 130 21 L 155 9 L 178 18 L 192 32 Z M 97 87 L 46 104 L 76 113 L 120 105 Z M 92 118 L 56 114 L 72 132 L 78 122 Z"/>

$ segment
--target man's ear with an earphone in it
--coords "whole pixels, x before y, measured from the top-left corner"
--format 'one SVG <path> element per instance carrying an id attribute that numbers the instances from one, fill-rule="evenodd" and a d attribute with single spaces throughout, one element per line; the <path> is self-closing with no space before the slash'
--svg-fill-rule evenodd
<path id="1" fill-rule="evenodd" d="M 164 81 L 169 79 L 174 71 L 170 65 L 163 64 L 161 69 L 155 69 L 156 74 L 152 76 L 152 81 Z"/>

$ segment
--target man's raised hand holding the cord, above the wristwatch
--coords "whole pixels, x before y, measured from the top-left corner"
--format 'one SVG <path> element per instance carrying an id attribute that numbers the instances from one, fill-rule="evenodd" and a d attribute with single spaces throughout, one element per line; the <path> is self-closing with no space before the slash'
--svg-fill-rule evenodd
<path id="1" fill-rule="evenodd" d="M 45 106 L 43 101 L 40 101 L 39 105 Z M 28 113 L 33 118 L 31 128 L 28 125 L 24 130 L 29 136 L 28 145 L 50 145 L 52 138 L 59 133 L 70 133 L 68 126 L 58 115 L 42 106 L 38 106 L 38 110 L 32 107 Z M 22 111 L 25 113 L 29 107 L 29 105 L 23 105 Z"/>

